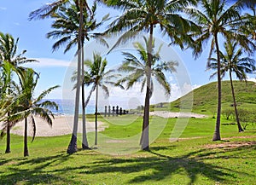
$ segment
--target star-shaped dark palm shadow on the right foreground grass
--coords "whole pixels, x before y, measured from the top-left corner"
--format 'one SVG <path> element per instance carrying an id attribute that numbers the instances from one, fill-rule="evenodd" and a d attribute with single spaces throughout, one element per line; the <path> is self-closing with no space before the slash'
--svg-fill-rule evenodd
<path id="1" fill-rule="evenodd" d="M 143 175 L 134 177 L 127 183 L 143 183 L 143 182 L 159 182 L 170 176 L 178 174 L 181 170 L 185 171 L 189 183 L 195 183 L 198 175 L 206 176 L 215 182 L 227 182 L 224 176 L 231 176 L 232 174 L 239 173 L 232 171 L 229 168 L 221 167 L 218 165 L 207 164 L 195 157 L 200 153 L 206 153 L 207 149 L 201 149 L 195 152 L 185 154 L 181 157 L 171 157 L 161 154 L 158 151 L 151 150 L 151 157 L 141 157 L 133 159 L 102 159 L 96 161 L 94 167 L 87 174 L 121 172 L 123 174 L 136 173 L 145 171 Z M 208 153 L 211 155 L 212 153 Z M 146 171 L 150 171 L 147 172 Z M 146 174 L 146 175 L 145 175 Z M 170 182 L 171 183 L 171 182 Z M 229 182 L 231 183 L 231 182 Z"/>

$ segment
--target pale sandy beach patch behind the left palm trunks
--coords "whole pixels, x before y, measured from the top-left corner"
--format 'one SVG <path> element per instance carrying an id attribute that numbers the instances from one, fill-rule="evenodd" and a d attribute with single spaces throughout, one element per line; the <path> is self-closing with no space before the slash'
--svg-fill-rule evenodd
<path id="1" fill-rule="evenodd" d="M 61 136 L 72 134 L 73 132 L 73 116 L 57 115 L 53 119 L 52 127 L 43 119 L 35 118 L 36 120 L 36 136 Z M 32 136 L 32 124 L 28 123 L 28 136 Z M 108 127 L 106 124 L 98 121 L 98 131 L 104 130 Z M 86 121 L 86 132 L 95 131 L 95 123 Z M 82 133 L 82 120 L 79 119 L 79 133 Z M 23 136 L 24 135 L 24 121 L 19 122 L 11 130 L 11 133 Z"/>

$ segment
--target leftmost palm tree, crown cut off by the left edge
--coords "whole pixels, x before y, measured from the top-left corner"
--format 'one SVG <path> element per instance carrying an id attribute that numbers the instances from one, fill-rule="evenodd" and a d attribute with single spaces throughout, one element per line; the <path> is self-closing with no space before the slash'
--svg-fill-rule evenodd
<path id="1" fill-rule="evenodd" d="M 6 89 L 8 90 L 6 93 L 10 95 L 10 83 L 11 83 L 11 78 L 13 75 L 13 72 L 15 71 L 15 68 L 23 68 L 25 69 L 26 67 L 20 66 L 21 64 L 27 63 L 27 62 L 32 62 L 36 60 L 30 60 L 26 59 L 24 54 L 26 53 L 26 50 L 23 50 L 20 54 L 17 55 L 17 47 L 18 47 L 18 42 L 19 38 L 15 40 L 10 34 L 4 34 L 3 32 L 0 32 L 0 68 L 3 67 L 3 63 L 8 62 L 10 65 L 5 65 L 5 86 Z M 8 113 L 9 114 L 9 113 Z M 5 153 L 10 153 L 10 126 L 11 123 L 7 124 L 7 143 L 6 143 L 6 150 Z"/>

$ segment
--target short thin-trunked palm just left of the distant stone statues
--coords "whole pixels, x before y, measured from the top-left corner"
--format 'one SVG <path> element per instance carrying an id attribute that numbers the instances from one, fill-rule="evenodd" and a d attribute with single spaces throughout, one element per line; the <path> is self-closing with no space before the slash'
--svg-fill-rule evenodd
<path id="1" fill-rule="evenodd" d="M 86 60 L 84 61 L 84 66 L 86 67 L 86 72 L 84 72 L 84 85 L 90 86 L 90 93 L 85 101 L 85 106 L 90 101 L 90 96 L 96 90 L 96 104 L 95 104 L 95 128 L 96 128 L 96 136 L 95 136 L 95 145 L 97 145 L 97 115 L 98 115 L 98 89 L 102 88 L 104 93 L 109 96 L 108 84 L 116 85 L 115 82 L 112 81 L 113 78 L 117 78 L 119 75 L 114 74 L 113 70 L 107 71 L 108 61 L 106 59 L 102 59 L 102 56 L 99 54 L 93 54 L 93 61 Z M 120 88 L 124 89 L 121 85 L 117 85 Z"/>

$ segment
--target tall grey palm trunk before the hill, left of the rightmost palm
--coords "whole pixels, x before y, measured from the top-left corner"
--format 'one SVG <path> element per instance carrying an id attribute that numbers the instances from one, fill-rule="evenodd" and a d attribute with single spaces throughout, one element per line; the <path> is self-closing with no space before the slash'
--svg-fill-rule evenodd
<path id="1" fill-rule="evenodd" d="M 220 75 L 220 57 L 219 57 L 219 48 L 218 48 L 218 35 L 214 34 L 215 44 L 216 44 L 216 52 L 217 52 L 217 61 L 218 61 L 218 111 L 217 111 L 217 119 L 215 125 L 215 131 L 212 137 L 212 141 L 220 140 L 220 115 L 221 115 L 221 75 Z"/>

